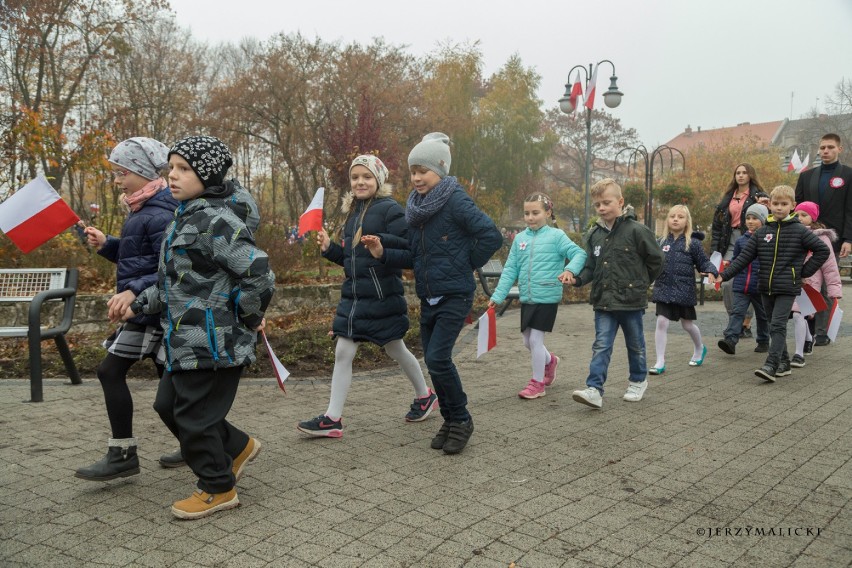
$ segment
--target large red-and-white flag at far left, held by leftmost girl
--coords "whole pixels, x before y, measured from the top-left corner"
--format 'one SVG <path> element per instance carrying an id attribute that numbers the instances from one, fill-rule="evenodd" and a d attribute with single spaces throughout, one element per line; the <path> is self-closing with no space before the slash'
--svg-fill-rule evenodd
<path id="1" fill-rule="evenodd" d="M 79 220 L 43 176 L 0 203 L 0 230 L 24 253 L 43 245 Z"/>

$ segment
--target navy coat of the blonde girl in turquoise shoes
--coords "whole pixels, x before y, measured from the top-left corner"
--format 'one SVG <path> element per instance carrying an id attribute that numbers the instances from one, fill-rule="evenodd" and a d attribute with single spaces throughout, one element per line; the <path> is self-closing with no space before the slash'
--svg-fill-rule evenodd
<path id="1" fill-rule="evenodd" d="M 701 241 L 704 233 L 695 231 L 686 246 L 686 235 L 677 239 L 671 233 L 660 243 L 666 260 L 663 262 L 663 272 L 654 282 L 654 293 L 651 300 L 664 304 L 678 306 L 694 306 L 698 303 L 695 297 L 695 270 L 718 275 L 716 267 L 704 254 Z"/>

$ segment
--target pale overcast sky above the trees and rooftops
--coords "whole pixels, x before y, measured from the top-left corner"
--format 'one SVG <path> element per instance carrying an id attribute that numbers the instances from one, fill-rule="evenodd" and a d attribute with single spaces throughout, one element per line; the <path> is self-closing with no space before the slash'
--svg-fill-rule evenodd
<path id="1" fill-rule="evenodd" d="M 478 40 L 486 77 L 513 53 L 536 70 L 543 108 L 558 104 L 574 65 L 609 59 L 624 93 L 612 113 L 649 148 L 687 125 L 824 112 L 826 95 L 852 80 L 852 0 L 170 2 L 178 23 L 211 43 L 297 31 L 343 43 L 382 36 L 420 56 Z M 604 64 L 599 93 L 610 74 Z"/>

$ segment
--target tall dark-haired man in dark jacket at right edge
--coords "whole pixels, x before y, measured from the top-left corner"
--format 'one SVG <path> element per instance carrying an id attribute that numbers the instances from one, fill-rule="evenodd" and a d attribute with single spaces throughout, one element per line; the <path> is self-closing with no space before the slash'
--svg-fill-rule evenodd
<path id="1" fill-rule="evenodd" d="M 842 151 L 840 136 L 833 133 L 824 135 L 819 141 L 822 164 L 802 172 L 796 183 L 796 203 L 813 201 L 819 205 L 820 223 L 837 232 L 839 238 L 834 243 L 834 252 L 840 258 L 852 252 L 852 198 L 849 197 L 852 168 L 840 163 Z M 825 290 L 821 292 L 826 296 Z M 817 312 L 814 327 L 814 345 L 828 345 L 828 311 Z"/>

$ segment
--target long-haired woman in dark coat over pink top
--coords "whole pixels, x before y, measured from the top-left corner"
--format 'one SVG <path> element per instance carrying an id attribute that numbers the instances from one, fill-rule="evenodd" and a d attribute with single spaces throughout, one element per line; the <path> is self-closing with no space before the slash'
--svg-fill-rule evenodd
<path id="1" fill-rule="evenodd" d="M 734 168 L 734 175 L 713 213 L 710 250 L 722 255 L 724 261 L 722 269 L 731 261 L 734 254 L 734 244 L 745 232 L 746 211 L 757 203 L 758 192 L 763 192 L 763 187 L 757 179 L 754 166 L 745 162 L 737 164 L 737 167 Z M 722 283 L 722 301 L 728 314 L 731 313 L 733 307 L 731 285 L 731 281 Z M 746 322 L 749 321 L 751 321 L 751 313 L 746 316 Z M 748 323 L 744 323 L 743 332 L 748 330 Z"/>

